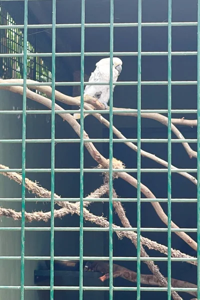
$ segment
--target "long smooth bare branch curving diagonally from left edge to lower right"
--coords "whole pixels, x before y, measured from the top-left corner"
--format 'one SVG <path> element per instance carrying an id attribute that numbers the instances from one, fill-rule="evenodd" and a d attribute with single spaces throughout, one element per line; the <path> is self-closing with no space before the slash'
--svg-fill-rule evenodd
<path id="1" fill-rule="evenodd" d="M 0 82 L 7 82 L 6 80 L 0 79 Z M 23 94 L 23 87 L 21 86 L 0 86 L 5 87 L 6 90 L 10 90 L 13 92 L 17 92 L 19 94 Z M 47 86 L 46 86 L 47 87 Z M 28 88 L 26 89 L 26 96 L 36 102 L 39 102 L 48 108 L 51 109 L 51 100 L 36 94 L 33 91 L 30 91 Z M 62 107 L 57 105 L 55 103 L 55 109 L 56 110 L 63 110 Z M 62 117 L 63 120 L 66 120 L 70 126 L 74 129 L 74 131 L 80 136 L 80 125 L 79 123 L 74 119 L 74 117 L 69 113 L 59 113 L 59 115 Z M 88 134 L 84 131 L 83 132 L 83 138 L 88 139 Z M 87 148 L 88 152 L 92 156 L 94 160 L 96 160 L 100 165 L 102 165 L 103 168 L 109 167 L 109 160 L 103 157 L 97 149 L 94 147 L 94 145 L 91 142 L 84 142 L 84 146 Z M 114 165 L 113 165 L 114 168 Z M 132 186 L 137 188 L 137 180 L 132 177 L 131 175 L 127 174 L 126 172 L 118 172 L 117 176 L 124 179 L 128 183 L 130 183 Z M 147 197 L 147 198 L 156 198 L 154 194 L 144 185 L 140 184 L 141 192 Z M 160 219 L 167 225 L 167 215 L 164 213 L 163 209 L 161 208 L 160 204 L 158 202 L 151 202 L 153 208 L 155 209 L 157 215 L 160 217 Z M 179 228 L 175 223 L 171 221 L 171 227 L 172 228 Z M 190 247 L 192 247 L 194 250 L 197 250 L 197 243 L 185 232 L 175 232 L 180 238 L 182 238 Z"/>

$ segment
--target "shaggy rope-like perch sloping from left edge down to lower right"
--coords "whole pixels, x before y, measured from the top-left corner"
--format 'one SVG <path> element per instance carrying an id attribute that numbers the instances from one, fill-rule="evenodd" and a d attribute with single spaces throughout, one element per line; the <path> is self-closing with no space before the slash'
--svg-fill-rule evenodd
<path id="1" fill-rule="evenodd" d="M 7 166 L 4 166 L 2 164 L 0 164 L 0 168 L 1 169 L 8 169 Z M 22 183 L 22 177 L 20 174 L 16 173 L 16 172 L 0 172 L 0 174 L 16 181 L 17 183 L 21 184 Z M 37 196 L 41 197 L 41 198 L 50 198 L 51 196 L 51 192 L 48 191 L 47 189 L 45 189 L 44 187 L 41 187 L 39 185 L 37 185 L 36 182 L 33 182 L 31 181 L 30 179 L 28 178 L 25 178 L 25 187 L 27 188 L 27 190 L 31 193 L 34 193 L 36 194 Z M 57 198 L 57 199 L 60 199 L 60 196 L 54 194 L 54 197 Z M 61 210 L 61 216 L 64 216 L 65 214 L 68 214 L 68 213 L 76 213 L 79 215 L 80 213 L 80 210 L 78 208 L 78 206 L 74 203 L 70 203 L 68 201 L 56 201 L 55 203 L 59 203 L 60 206 L 64 206 L 64 208 Z M 11 209 L 12 210 L 12 209 Z M 10 209 L 7 210 L 7 214 L 9 213 Z M 14 211 L 14 210 L 13 210 Z M 60 211 L 60 209 L 59 209 Z M 3 212 L 3 211 L 2 211 Z M 35 220 L 48 220 L 50 218 L 50 212 L 38 212 L 39 213 L 39 219 L 35 219 Z M 44 218 L 42 218 L 42 213 L 44 215 Z M 1 215 L 4 215 L 3 213 Z M 34 213 L 34 216 L 36 214 Z M 11 216 L 11 215 L 7 215 L 7 216 Z M 27 216 L 27 215 L 26 215 Z M 47 219 L 45 219 L 47 216 Z M 109 222 L 101 217 L 101 216 L 95 216 L 93 215 L 92 213 L 90 213 L 86 208 L 84 208 L 83 210 L 83 216 L 86 220 L 90 221 L 90 222 L 94 222 L 96 223 L 97 225 L 100 225 L 101 227 L 109 227 Z M 18 215 L 17 215 L 17 218 L 16 219 L 20 219 L 21 218 L 21 213 L 18 212 Z M 26 218 L 26 220 L 28 221 L 28 219 Z M 120 226 L 117 226 L 115 224 L 112 225 L 113 228 L 120 228 L 122 230 L 122 228 Z M 117 233 L 118 231 L 116 231 Z M 137 234 L 133 231 L 120 231 L 120 234 L 121 236 L 125 236 L 127 238 L 129 238 L 130 240 L 132 239 L 135 239 L 137 240 Z M 162 245 L 162 244 L 159 244 L 157 243 L 156 241 L 152 241 L 150 240 L 149 238 L 147 237 L 143 237 L 141 236 L 140 238 L 140 241 L 143 245 L 147 246 L 149 249 L 154 249 L 154 250 L 157 250 L 165 255 L 167 255 L 167 247 Z M 195 257 L 192 257 L 190 255 L 187 255 L 185 253 L 182 253 L 180 252 L 179 250 L 175 250 L 173 248 L 171 248 L 171 256 L 172 257 L 184 257 L 184 258 L 195 258 Z M 197 265 L 197 262 L 196 261 L 188 261 L 188 263 L 191 263 L 191 264 L 194 264 L 194 265 Z"/>

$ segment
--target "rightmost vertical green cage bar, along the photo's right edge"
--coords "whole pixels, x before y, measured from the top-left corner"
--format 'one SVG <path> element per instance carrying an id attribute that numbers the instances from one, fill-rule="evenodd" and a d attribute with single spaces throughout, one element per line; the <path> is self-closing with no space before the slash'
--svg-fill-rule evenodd
<path id="1" fill-rule="evenodd" d="M 200 0 L 197 3 L 197 299 L 200 299 Z"/>

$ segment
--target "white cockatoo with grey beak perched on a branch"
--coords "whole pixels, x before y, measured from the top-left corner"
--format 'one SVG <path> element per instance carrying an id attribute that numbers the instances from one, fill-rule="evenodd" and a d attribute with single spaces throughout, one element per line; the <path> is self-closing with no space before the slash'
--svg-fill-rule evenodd
<path id="1" fill-rule="evenodd" d="M 113 67 L 112 67 L 112 79 L 115 82 L 122 70 L 122 61 L 118 57 L 113 57 Z M 96 62 L 96 68 L 91 73 L 88 82 L 108 82 L 110 73 L 110 58 L 102 58 Z M 114 84 L 113 89 L 114 90 Z M 105 109 L 107 109 L 107 102 L 109 101 L 109 85 L 86 85 L 84 89 L 84 96 L 89 95 L 95 97 L 98 101 L 104 104 Z M 79 109 L 80 110 L 80 109 Z M 79 111 L 78 110 L 78 111 Z M 84 113 L 84 117 L 88 113 Z M 73 116 L 76 119 L 80 118 L 80 113 L 74 113 Z"/>

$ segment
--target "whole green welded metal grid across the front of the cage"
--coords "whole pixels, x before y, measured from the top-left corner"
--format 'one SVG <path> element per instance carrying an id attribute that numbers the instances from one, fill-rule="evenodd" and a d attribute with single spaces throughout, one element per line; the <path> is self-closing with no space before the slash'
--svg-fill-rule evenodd
<path id="1" fill-rule="evenodd" d="M 52 0 L 52 24 L 48 25 L 27 25 L 27 4 L 28 0 L 24 0 L 24 24 L 23 25 L 10 25 L 10 24 L 3 24 L 1 26 L 2 28 L 23 28 L 24 30 L 24 37 L 23 37 L 23 53 L 21 48 L 17 48 L 15 51 L 19 53 L 17 56 L 12 54 L 12 55 L 6 55 L 6 54 L 1 54 L 0 57 L 5 57 L 3 59 L 6 59 L 6 57 L 18 57 L 19 60 L 16 60 L 16 58 L 13 58 L 13 61 L 20 61 L 23 58 L 23 84 L 21 83 L 0 83 L 0 85 L 23 85 L 23 110 L 22 111 L 17 111 L 18 113 L 21 113 L 23 116 L 23 126 L 22 126 L 22 139 L 15 139 L 15 140 L 3 140 L 1 139 L 0 142 L 22 142 L 22 167 L 21 169 L 15 168 L 15 169 L 3 169 L 0 171 L 3 172 L 12 172 L 12 171 L 17 171 L 17 172 L 22 172 L 22 198 L 7 198 L 7 201 L 11 200 L 16 200 L 16 201 L 22 201 L 22 219 L 21 219 L 21 227 L 15 227 L 15 230 L 21 230 L 21 256 L 19 257 L 14 257 L 16 259 L 21 259 L 21 282 L 20 282 L 20 289 L 21 289 L 21 300 L 24 299 L 24 288 L 25 289 L 50 289 L 50 299 L 53 299 L 53 290 L 54 289 L 71 289 L 71 290 L 77 290 L 79 289 L 79 299 L 82 299 L 83 295 L 83 290 L 109 290 L 109 299 L 112 300 L 113 298 L 113 290 L 136 290 L 137 291 L 137 299 L 140 299 L 140 291 L 141 290 L 148 290 L 148 291 L 163 291 L 167 290 L 168 294 L 168 299 L 171 298 L 171 291 L 176 290 L 176 291 L 181 291 L 181 290 L 186 290 L 186 288 L 172 288 L 171 284 L 168 284 L 167 288 L 165 287 L 141 287 L 140 286 L 140 262 L 144 260 L 157 260 L 157 261 L 167 261 L 168 263 L 168 282 L 170 282 L 171 279 L 171 261 L 178 261 L 178 258 L 172 258 L 171 257 L 171 232 L 178 231 L 178 229 L 171 228 L 171 202 L 196 202 L 197 201 L 197 215 L 199 216 L 200 213 L 200 206 L 199 206 L 199 198 L 200 198 L 200 190 L 199 190 L 199 184 L 197 185 L 197 199 L 171 199 L 171 173 L 172 172 L 197 172 L 197 180 L 200 179 L 200 171 L 199 171 L 199 155 L 197 155 L 197 168 L 184 168 L 184 169 L 171 169 L 171 143 L 172 142 L 197 142 L 197 152 L 199 153 L 200 151 L 200 143 L 199 143 L 199 134 L 200 134 L 200 127 L 199 127 L 199 118 L 200 118 L 200 107 L 199 107 L 199 97 L 200 97 L 200 88 L 199 88 L 199 80 L 200 80 L 200 72 L 199 72 L 199 53 L 200 53 L 200 21 L 199 21 L 199 16 L 200 16 L 200 0 L 198 0 L 198 22 L 171 22 L 171 0 L 168 0 L 168 22 L 167 23 L 142 23 L 141 22 L 141 6 L 142 6 L 142 1 L 138 0 L 138 23 L 113 23 L 113 7 L 114 7 L 114 0 L 110 0 L 110 22 L 109 24 L 85 24 L 84 19 L 85 19 L 85 10 L 84 10 L 84 5 L 85 5 L 85 0 L 81 0 L 81 24 L 56 24 L 55 21 L 55 13 L 56 13 L 56 0 Z M 85 27 L 109 27 L 110 28 L 110 51 L 109 52 L 91 52 L 91 53 L 84 53 L 84 28 Z M 138 27 L 138 51 L 137 52 L 113 52 L 113 27 L 114 26 L 137 26 Z M 141 52 L 141 27 L 142 26 L 168 26 L 168 51 L 167 52 Z M 190 52 L 172 52 L 171 51 L 171 26 L 197 26 L 198 29 L 198 35 L 197 35 L 197 51 L 190 51 Z M 32 53 L 30 53 L 27 50 L 27 47 L 25 46 L 27 43 L 27 28 L 52 28 L 52 52 L 51 53 L 34 53 L 33 48 Z M 80 27 L 81 28 L 81 51 L 80 53 L 56 53 L 55 52 L 55 28 L 60 28 L 60 27 Z M 13 30 L 13 29 L 10 29 Z M 12 31 L 10 31 L 12 32 Z M 20 50 L 20 51 L 19 51 Z M 6 52 L 6 51 L 5 51 Z M 29 53 L 28 53 L 29 52 Z M 42 82 L 39 85 L 50 85 L 52 87 L 52 109 L 51 109 L 51 139 L 31 139 L 31 140 L 26 140 L 26 135 L 25 135 L 25 130 L 26 130 L 26 114 L 27 113 L 49 113 L 46 112 L 45 110 L 32 110 L 32 111 L 26 111 L 26 86 L 31 86 L 31 83 L 26 82 L 26 79 L 28 78 L 28 57 L 37 57 L 40 56 L 51 56 L 52 57 L 52 78 L 50 78 L 50 75 L 48 79 L 51 79 L 51 82 L 44 82 L 47 80 L 44 80 L 42 76 L 36 75 L 37 80 L 41 80 Z M 84 90 L 84 85 L 88 84 L 87 82 L 84 82 L 84 56 L 95 56 L 95 55 L 104 55 L 107 56 L 109 55 L 110 58 L 113 57 L 113 55 L 137 55 L 137 61 L 138 61 L 138 69 L 137 69 L 137 81 L 126 81 L 126 82 L 116 82 L 116 85 L 137 85 L 137 110 L 132 109 L 130 112 L 137 112 L 137 139 L 125 139 L 125 140 L 118 140 L 113 138 L 113 132 L 112 132 L 112 125 L 113 125 L 113 102 L 112 102 L 112 93 L 110 94 L 110 109 L 109 111 L 102 111 L 102 110 L 95 110 L 95 112 L 99 113 L 109 113 L 109 121 L 110 121 L 110 126 L 109 126 L 109 139 L 84 139 L 83 138 L 83 90 Z M 168 56 L 168 80 L 167 81 L 141 81 L 141 56 L 142 55 L 167 55 Z M 171 80 L 171 56 L 172 55 L 197 55 L 197 81 L 172 81 Z M 55 57 L 56 56 L 80 56 L 81 59 L 81 76 L 80 76 L 80 82 L 55 82 Z M 29 63 L 35 61 L 34 59 L 30 59 Z M 36 62 L 38 65 L 38 63 Z M 8 70 L 12 69 L 11 67 L 8 68 Z M 36 68 L 37 69 L 37 68 Z M 14 77 L 19 76 L 19 74 L 15 72 Z M 91 83 L 89 83 L 91 84 Z M 93 82 L 95 84 L 95 82 Z M 99 83 L 98 83 L 99 84 Z M 102 83 L 105 84 L 105 83 Z M 171 109 L 171 85 L 197 85 L 197 110 L 194 109 Z M 34 85 L 34 83 L 32 83 Z M 80 105 L 80 139 L 55 139 L 55 114 L 60 113 L 60 111 L 55 110 L 55 86 L 62 86 L 62 85 L 80 85 L 80 96 L 81 96 L 81 105 Z M 110 63 L 110 90 L 112 90 L 112 63 Z M 168 90 L 168 109 L 141 109 L 141 85 L 167 85 L 167 90 Z M 61 112 L 65 113 L 73 113 L 76 112 L 76 110 L 63 110 Z M 87 113 L 92 113 L 93 110 L 86 111 Z M 126 112 L 126 110 L 120 110 L 119 112 Z M 168 114 L 168 136 L 167 139 L 141 139 L 141 113 L 142 112 L 161 112 L 161 113 L 167 113 Z M 171 113 L 179 113 L 179 112 L 184 112 L 184 113 L 196 113 L 197 112 L 197 139 L 172 139 L 171 138 Z M 9 111 L 0 111 L 0 113 L 9 113 Z M 14 113 L 14 112 L 13 112 Z M 51 168 L 50 169 L 44 169 L 44 168 L 29 168 L 27 169 L 25 167 L 25 145 L 26 142 L 51 142 Z M 54 167 L 54 144 L 55 142 L 78 142 L 80 143 L 80 168 L 55 168 Z M 123 228 L 124 231 L 137 231 L 137 257 L 113 257 L 112 253 L 112 248 L 113 248 L 113 243 L 112 243 L 112 234 L 113 231 L 117 231 L 116 228 L 112 228 L 112 202 L 113 200 L 117 201 L 119 199 L 113 199 L 112 197 L 112 175 L 113 172 L 122 172 L 124 171 L 123 169 L 113 169 L 112 164 L 109 164 L 109 169 L 86 169 L 83 166 L 83 146 L 85 141 L 91 141 L 91 142 L 109 142 L 109 160 L 112 161 L 112 147 L 113 147 L 113 142 L 124 142 L 124 141 L 132 141 L 132 142 L 137 142 L 137 168 L 136 169 L 126 169 L 127 172 L 136 172 L 137 173 L 137 198 L 120 198 L 120 201 L 135 201 L 137 202 L 137 227 L 136 228 Z M 160 169 L 160 168 L 150 168 L 150 169 L 142 169 L 141 168 L 141 161 L 140 161 L 140 145 L 141 142 L 167 142 L 167 148 L 168 148 L 168 168 L 167 169 Z M 80 201 L 80 226 L 79 227 L 63 227 L 56 229 L 54 228 L 54 174 L 55 172 L 79 172 L 80 173 L 80 197 L 79 198 L 62 198 L 62 200 L 70 200 L 70 201 Z M 83 227 L 83 174 L 84 172 L 109 172 L 109 198 L 103 199 L 103 201 L 108 201 L 109 202 L 109 228 L 87 228 Z M 168 182 L 168 192 L 167 192 L 167 198 L 166 199 L 140 199 L 140 173 L 141 172 L 167 172 L 167 182 Z M 25 174 L 26 172 L 51 172 L 51 198 L 40 198 L 38 201 L 47 201 L 49 200 L 51 203 L 51 226 L 50 226 L 50 286 L 40 286 L 40 287 L 33 287 L 33 286 L 25 286 L 24 287 L 24 231 L 25 231 L 25 201 L 31 201 L 31 198 L 25 198 Z M 100 201 L 101 199 L 90 199 L 91 201 Z M 140 227 L 140 202 L 141 201 L 159 201 L 159 202 L 167 202 L 168 204 L 168 226 L 167 228 L 141 228 Z M 188 232 L 196 232 L 197 231 L 197 241 L 198 241 L 198 250 L 197 250 L 197 273 L 199 276 L 199 225 L 200 225 L 200 220 L 199 217 L 197 218 L 197 229 L 196 228 L 184 228 L 184 231 Z M 8 230 L 9 228 L 7 228 Z M 31 230 L 44 230 L 43 227 L 32 227 Z M 53 259 L 54 259 L 54 231 L 55 230 L 77 230 L 80 232 L 80 239 L 79 239 L 79 257 L 77 256 L 66 256 L 66 257 L 56 257 L 59 259 L 79 259 L 80 261 L 80 269 L 79 269 L 79 287 L 76 286 L 62 286 L 62 287 L 57 287 L 53 286 Z M 107 231 L 109 232 L 109 257 L 84 257 L 83 256 L 83 231 L 89 230 L 89 231 Z M 182 230 L 182 229 L 179 229 Z M 164 257 L 149 257 L 149 258 L 143 258 L 140 257 L 140 232 L 141 231 L 162 231 L 166 232 L 168 234 L 168 256 L 167 258 Z M 27 259 L 29 257 L 26 257 Z M 84 259 L 99 259 L 99 260 L 104 260 L 104 259 L 109 259 L 109 288 L 106 287 L 88 287 L 88 286 L 83 286 L 83 260 Z M 32 257 L 32 259 L 36 259 L 36 257 Z M 135 287 L 113 287 L 113 278 L 112 278 L 112 261 L 113 260 L 136 260 L 137 261 L 137 286 Z M 181 258 L 181 261 L 188 261 L 189 259 L 184 259 Z M 199 280 L 197 280 L 199 281 Z M 200 298 L 200 289 L 199 289 L 199 284 L 197 287 L 197 298 Z M 1 289 L 3 288 L 9 288 L 6 286 L 0 286 Z M 18 286 L 12 286 L 12 288 L 18 288 Z M 187 290 L 196 290 L 195 288 L 187 288 Z"/>

